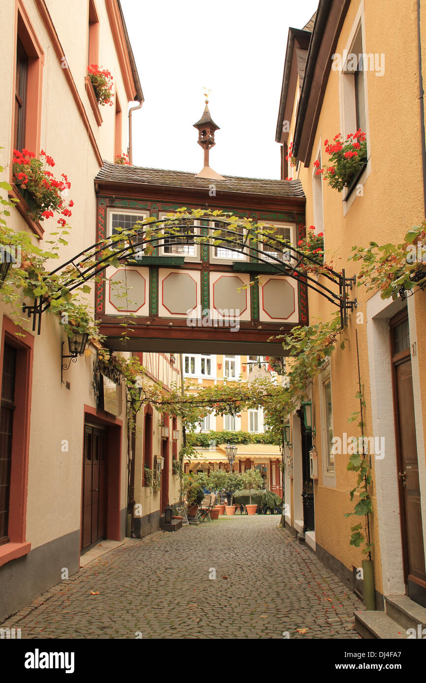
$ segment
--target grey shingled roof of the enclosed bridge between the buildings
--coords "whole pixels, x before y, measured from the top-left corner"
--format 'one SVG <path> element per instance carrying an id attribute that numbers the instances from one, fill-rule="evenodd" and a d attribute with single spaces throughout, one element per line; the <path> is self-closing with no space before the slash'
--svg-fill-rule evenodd
<path id="1" fill-rule="evenodd" d="M 195 173 L 187 173 L 187 171 L 121 166 L 107 161 L 104 161 L 103 167 L 98 171 L 95 178 L 96 181 L 205 189 L 207 191 L 211 185 L 210 178 L 197 178 Z M 299 180 L 268 180 L 264 178 L 224 176 L 224 180 L 215 180 L 215 187 L 217 192 L 239 192 L 305 199 L 302 183 Z"/>

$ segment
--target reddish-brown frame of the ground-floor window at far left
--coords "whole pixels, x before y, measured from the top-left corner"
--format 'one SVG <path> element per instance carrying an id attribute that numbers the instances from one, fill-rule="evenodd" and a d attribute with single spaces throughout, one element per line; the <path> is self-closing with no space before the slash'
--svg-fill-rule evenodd
<path id="1" fill-rule="evenodd" d="M 19 332 L 22 337 L 16 337 Z M 17 350 L 15 379 L 15 411 L 12 432 L 12 456 L 10 465 L 9 542 L 0 546 L 0 566 L 27 555 L 31 543 L 26 541 L 27 532 L 27 486 L 29 465 L 29 426 L 31 416 L 31 380 L 34 337 L 18 328 L 12 320 L 3 316 L 1 331 L 0 392 L 3 373 L 3 348 L 7 342 Z"/>

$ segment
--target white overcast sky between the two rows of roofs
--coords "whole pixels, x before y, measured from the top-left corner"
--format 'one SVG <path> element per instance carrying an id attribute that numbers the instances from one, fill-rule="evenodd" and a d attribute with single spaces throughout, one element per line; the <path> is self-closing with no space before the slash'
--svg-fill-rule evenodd
<path id="1" fill-rule="evenodd" d="M 133 114 L 133 163 L 194 171 L 203 152 L 192 127 L 209 109 L 220 127 L 218 173 L 280 177 L 275 141 L 289 27 L 318 0 L 122 0 L 145 102 Z M 105 65 L 107 66 L 107 65 Z"/>

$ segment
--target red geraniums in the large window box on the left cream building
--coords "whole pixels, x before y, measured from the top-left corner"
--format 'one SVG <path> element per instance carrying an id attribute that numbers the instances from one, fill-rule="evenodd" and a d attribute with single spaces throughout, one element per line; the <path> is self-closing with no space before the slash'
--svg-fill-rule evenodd
<path id="1" fill-rule="evenodd" d="M 70 207 L 74 205 L 71 200 L 66 206 L 62 193 L 70 189 L 70 182 L 65 173 L 62 173 L 62 180 L 56 180 L 53 173 L 47 167 L 53 167 L 53 158 L 46 154 L 44 150 L 40 152 L 37 159 L 34 152 L 29 150 L 13 150 L 12 159 L 13 182 L 18 187 L 21 195 L 27 202 L 28 215 L 33 221 L 42 221 L 45 218 L 52 218 L 54 211 L 60 211 L 66 218 L 70 217 Z M 57 223 L 64 227 L 65 218 L 57 219 Z"/>

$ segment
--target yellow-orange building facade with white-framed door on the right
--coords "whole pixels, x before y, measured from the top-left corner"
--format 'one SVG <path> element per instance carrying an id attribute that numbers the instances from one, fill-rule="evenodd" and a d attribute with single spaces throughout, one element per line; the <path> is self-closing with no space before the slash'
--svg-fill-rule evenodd
<path id="1" fill-rule="evenodd" d="M 302 181 L 306 225 L 323 233 L 325 262 L 345 268 L 350 277 L 359 270 L 349 260 L 354 245 L 402 242 L 425 217 L 425 122 L 418 93 L 423 94 L 426 15 L 419 5 L 412 10 L 400 14 L 397 3 L 376 0 L 321 0 L 304 29 L 289 31 L 276 133 L 282 178 Z M 387 106 L 396 92 L 398 107 Z M 321 173 L 325 148 L 339 133 L 345 140 L 359 129 L 367 137 L 367 160 L 339 193 Z M 388 140 L 390 130 L 399 131 L 397 145 Z M 403 193 L 396 190 L 401 148 L 410 158 Z M 361 518 L 345 517 L 354 507 L 345 443 L 360 435 L 348 419 L 360 410 L 361 385 L 364 435 L 375 439 L 369 451 L 369 522 L 376 605 L 383 609 L 384 598 L 392 595 L 426 606 L 425 294 L 383 299 L 362 286 L 351 294 L 358 306 L 349 315 L 345 348 L 333 352 L 308 387 L 314 430 L 306 432 L 300 411 L 289 417 L 286 519 L 321 560 L 356 587 L 364 556 L 349 544 L 350 527 Z M 309 291 L 308 303 L 310 320 L 330 317 L 325 298 Z M 313 478 L 312 441 L 318 454 Z"/>

